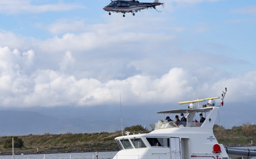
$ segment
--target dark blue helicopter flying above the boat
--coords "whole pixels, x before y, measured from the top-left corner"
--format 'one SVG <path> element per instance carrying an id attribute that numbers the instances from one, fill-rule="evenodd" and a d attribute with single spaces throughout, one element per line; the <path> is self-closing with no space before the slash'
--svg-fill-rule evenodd
<path id="1" fill-rule="evenodd" d="M 103 8 L 104 11 L 116 13 L 123 13 L 123 17 L 125 17 L 125 13 L 132 13 L 135 16 L 135 12 L 144 10 L 144 9 L 156 9 L 156 6 L 164 5 L 164 3 L 160 3 L 159 0 L 155 0 L 153 3 L 140 3 L 137 0 L 111 0 L 111 3 Z M 159 11 L 158 11 L 159 12 Z"/>

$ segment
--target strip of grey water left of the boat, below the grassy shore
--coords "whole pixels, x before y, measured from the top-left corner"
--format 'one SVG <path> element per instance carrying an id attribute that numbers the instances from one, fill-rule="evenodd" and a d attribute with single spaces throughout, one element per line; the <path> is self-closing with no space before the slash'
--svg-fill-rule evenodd
<path id="1" fill-rule="evenodd" d="M 112 152 L 98 152 L 99 159 L 112 159 L 116 155 L 117 151 Z M 45 159 L 92 159 L 94 154 L 94 159 L 96 158 L 95 152 L 85 152 L 85 153 L 58 153 L 58 154 L 45 154 Z M 15 159 L 43 159 L 43 154 L 34 155 L 15 155 Z M 0 156 L 0 159 L 12 159 L 12 155 Z"/>

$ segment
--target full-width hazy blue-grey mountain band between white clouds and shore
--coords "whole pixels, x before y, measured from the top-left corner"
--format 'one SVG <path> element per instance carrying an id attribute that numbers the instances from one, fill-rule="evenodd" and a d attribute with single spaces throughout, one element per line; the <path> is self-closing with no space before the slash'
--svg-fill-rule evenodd
<path id="1" fill-rule="evenodd" d="M 156 112 L 186 108 L 176 104 L 170 105 L 174 106 L 169 106 L 169 104 L 158 106 L 124 105 L 122 107 L 123 128 L 139 124 L 150 130 L 149 124 L 164 119 L 163 114 Z M 0 107 L 0 136 L 48 132 L 53 134 L 115 132 L 121 129 L 120 106 L 12 108 L 15 111 L 4 109 Z M 165 114 L 171 119 L 174 119 L 175 115 L 180 116 L 180 114 Z M 199 120 L 199 116 L 196 116 L 196 119 Z M 252 102 L 224 103 L 224 106 L 220 108 L 219 117 L 217 117 L 215 124 L 218 124 L 218 121 L 227 129 L 246 122 L 256 124 L 254 106 Z"/>

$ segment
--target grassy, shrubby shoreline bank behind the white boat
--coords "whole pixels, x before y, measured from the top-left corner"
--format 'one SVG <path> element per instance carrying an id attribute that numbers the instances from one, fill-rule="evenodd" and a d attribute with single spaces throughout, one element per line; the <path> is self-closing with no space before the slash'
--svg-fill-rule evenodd
<path id="1" fill-rule="evenodd" d="M 130 134 L 149 133 L 141 125 L 126 127 L 124 131 Z M 214 125 L 213 133 L 220 144 L 224 146 L 256 146 L 256 125 L 245 123 L 225 129 Z M 95 151 L 118 151 L 119 148 L 114 140 L 121 136 L 121 131 L 100 133 L 65 133 L 43 135 L 22 135 L 24 146 L 15 148 L 15 154 L 46 154 L 46 153 L 75 153 Z M 4 142 L 12 136 L 0 136 L 0 155 L 11 155 L 12 148 L 4 148 Z M 253 144 L 251 144 L 251 140 Z"/>

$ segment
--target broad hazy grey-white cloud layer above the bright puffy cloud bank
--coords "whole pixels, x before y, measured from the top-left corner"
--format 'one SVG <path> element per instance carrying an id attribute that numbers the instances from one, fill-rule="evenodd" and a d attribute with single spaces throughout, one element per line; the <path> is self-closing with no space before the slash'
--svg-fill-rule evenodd
<path id="1" fill-rule="evenodd" d="M 194 70 L 200 68 L 201 62 L 207 61 L 209 57 L 219 66 L 248 64 L 228 56 L 198 50 L 183 51 L 179 46 L 180 39 L 176 37 L 177 29 L 168 31 L 164 19 L 157 21 L 155 17 L 158 24 L 152 30 L 143 24 L 147 22 L 147 26 L 156 25 L 150 19 L 144 21 L 138 18 L 135 19 L 138 23 L 129 24 L 128 17 L 124 19 L 118 14 L 114 16 L 123 25 L 114 25 L 114 20 L 110 19 L 105 24 L 86 25 L 86 31 L 82 33 L 64 33 L 45 40 L 3 32 L 0 44 L 10 49 L 34 50 L 37 53 L 34 68 L 61 70 L 78 79 L 86 77 L 103 82 L 142 73 L 160 77 L 173 67 Z M 69 62 L 67 57 L 64 58 L 67 52 L 72 57 Z M 65 60 L 61 61 L 63 58 Z M 204 67 L 214 66 L 213 63 L 205 63 Z"/>

